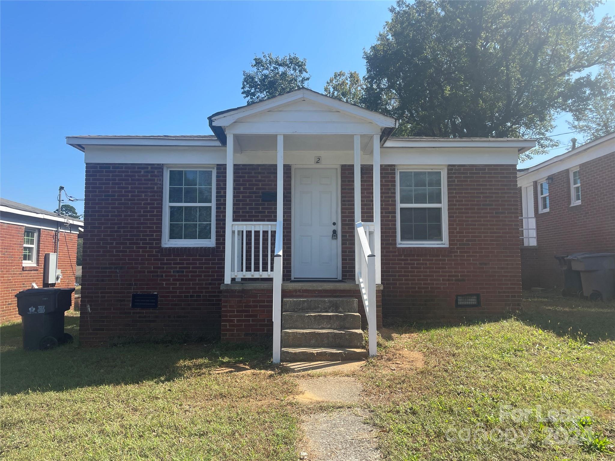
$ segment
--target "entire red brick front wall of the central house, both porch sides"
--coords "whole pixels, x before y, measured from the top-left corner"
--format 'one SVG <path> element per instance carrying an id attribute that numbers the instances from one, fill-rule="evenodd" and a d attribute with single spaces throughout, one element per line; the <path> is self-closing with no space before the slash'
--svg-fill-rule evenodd
<path id="1" fill-rule="evenodd" d="M 285 280 L 291 275 L 291 168 L 284 167 Z M 276 203 L 262 202 L 260 196 L 275 190 L 275 171 L 275 165 L 235 166 L 235 219 L 275 220 Z M 352 165 L 341 167 L 339 232 L 345 279 L 354 278 L 352 171 Z M 362 167 L 364 221 L 373 220 L 372 171 L 370 165 Z M 221 318 L 222 306 L 228 311 L 224 315 L 230 315 L 235 302 L 245 305 L 252 299 L 224 301 L 221 296 L 224 165 L 217 166 L 215 248 L 161 248 L 162 173 L 162 165 L 155 164 L 86 165 L 82 344 L 125 336 L 218 336 L 221 320 L 228 320 Z M 514 165 L 448 168 L 450 248 L 435 249 L 397 248 L 394 165 L 383 165 L 381 173 L 385 318 L 485 315 L 518 307 Z M 130 295 L 137 292 L 159 293 L 159 309 L 131 309 Z M 454 294 L 474 292 L 482 294 L 482 308 L 454 309 Z M 261 299 L 265 298 L 258 297 L 257 305 Z M 268 333 L 261 314 L 240 313 L 256 325 L 247 333 Z"/>

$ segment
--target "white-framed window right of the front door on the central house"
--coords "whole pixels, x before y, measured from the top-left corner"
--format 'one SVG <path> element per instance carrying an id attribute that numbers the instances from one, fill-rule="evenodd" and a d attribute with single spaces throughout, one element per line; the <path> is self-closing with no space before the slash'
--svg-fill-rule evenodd
<path id="1" fill-rule="evenodd" d="M 397 245 L 448 245 L 446 168 L 397 170 Z"/>

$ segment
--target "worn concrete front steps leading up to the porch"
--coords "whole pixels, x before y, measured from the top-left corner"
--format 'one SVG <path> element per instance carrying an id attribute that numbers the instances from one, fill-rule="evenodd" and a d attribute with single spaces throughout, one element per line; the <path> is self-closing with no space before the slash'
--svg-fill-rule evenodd
<path id="1" fill-rule="evenodd" d="M 286 362 L 367 358 L 357 299 L 284 299 L 281 358 Z"/>

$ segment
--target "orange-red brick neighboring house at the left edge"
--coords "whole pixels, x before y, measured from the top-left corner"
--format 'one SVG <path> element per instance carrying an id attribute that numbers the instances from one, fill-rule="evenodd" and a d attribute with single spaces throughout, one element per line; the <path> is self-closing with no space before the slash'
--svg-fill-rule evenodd
<path id="1" fill-rule="evenodd" d="M 44 283 L 46 253 L 55 253 L 60 232 L 59 283 Z M 77 237 L 83 221 L 0 199 L 0 322 L 18 320 L 15 293 L 32 288 L 74 287 Z"/>

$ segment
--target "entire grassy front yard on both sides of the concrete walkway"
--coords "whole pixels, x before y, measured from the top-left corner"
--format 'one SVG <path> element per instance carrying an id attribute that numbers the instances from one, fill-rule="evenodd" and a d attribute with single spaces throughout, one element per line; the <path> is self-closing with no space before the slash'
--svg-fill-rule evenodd
<path id="1" fill-rule="evenodd" d="M 73 336 L 77 323 L 67 318 Z M 268 347 L 24 352 L 20 329 L 0 331 L 4 460 L 298 459 L 311 406 L 291 397 L 305 375 L 273 368 Z M 382 333 L 379 358 L 347 373 L 363 384 L 357 406 L 384 459 L 600 459 L 614 449 L 615 303 L 533 299 L 506 320 Z M 592 416 L 561 412 L 575 409 Z"/>

